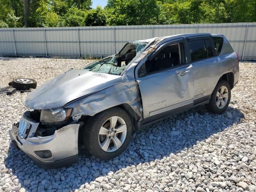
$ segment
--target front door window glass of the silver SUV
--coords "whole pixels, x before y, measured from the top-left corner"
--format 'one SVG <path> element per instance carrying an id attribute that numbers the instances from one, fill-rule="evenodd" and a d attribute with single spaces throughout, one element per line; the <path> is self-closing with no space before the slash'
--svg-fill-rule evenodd
<path id="1" fill-rule="evenodd" d="M 145 63 L 146 74 L 161 70 L 168 70 L 180 64 L 183 64 L 183 43 L 175 43 L 166 46 L 152 60 Z"/>

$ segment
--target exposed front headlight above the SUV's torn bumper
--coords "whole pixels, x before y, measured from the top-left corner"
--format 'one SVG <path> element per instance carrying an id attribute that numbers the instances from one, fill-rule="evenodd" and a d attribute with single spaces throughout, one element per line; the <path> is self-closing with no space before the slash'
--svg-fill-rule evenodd
<path id="1" fill-rule="evenodd" d="M 40 122 L 55 123 L 67 120 L 70 117 L 72 108 L 43 109 L 41 111 Z"/>

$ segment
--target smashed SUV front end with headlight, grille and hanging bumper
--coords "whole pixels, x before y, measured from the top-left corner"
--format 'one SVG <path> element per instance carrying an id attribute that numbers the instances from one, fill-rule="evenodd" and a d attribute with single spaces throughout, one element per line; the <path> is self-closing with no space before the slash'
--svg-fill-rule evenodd
<path id="1" fill-rule="evenodd" d="M 38 166 L 57 168 L 78 161 L 78 129 L 72 108 L 26 111 L 13 123 L 10 138 Z"/>

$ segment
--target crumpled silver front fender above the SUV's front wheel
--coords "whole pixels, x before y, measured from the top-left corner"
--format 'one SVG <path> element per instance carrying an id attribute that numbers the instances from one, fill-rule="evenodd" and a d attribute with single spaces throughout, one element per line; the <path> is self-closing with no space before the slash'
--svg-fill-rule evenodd
<path id="1" fill-rule="evenodd" d="M 135 79 L 121 82 L 84 98 L 75 100 L 65 107 L 74 108 L 72 116 L 89 115 L 102 112 L 108 108 L 128 104 L 142 118 L 142 104 Z"/>

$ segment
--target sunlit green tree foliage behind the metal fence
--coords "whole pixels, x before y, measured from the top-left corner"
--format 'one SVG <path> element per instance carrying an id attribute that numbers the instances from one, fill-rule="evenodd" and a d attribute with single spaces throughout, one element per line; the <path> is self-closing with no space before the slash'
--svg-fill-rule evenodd
<path id="1" fill-rule="evenodd" d="M 256 22 L 256 0 L 29 0 L 31 27 Z M 0 27 L 24 27 L 23 0 L 0 0 Z"/>

